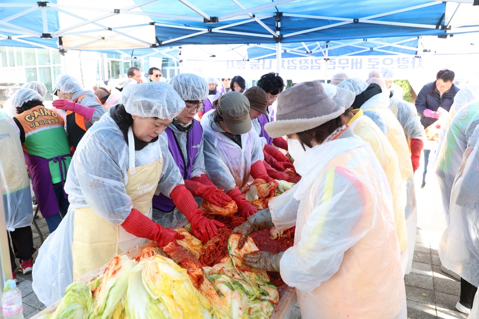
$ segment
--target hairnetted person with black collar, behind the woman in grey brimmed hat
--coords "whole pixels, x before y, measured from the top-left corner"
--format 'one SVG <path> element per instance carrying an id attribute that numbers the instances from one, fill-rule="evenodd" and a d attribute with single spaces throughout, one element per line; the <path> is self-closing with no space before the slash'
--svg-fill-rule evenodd
<path id="1" fill-rule="evenodd" d="M 377 78 L 374 78 L 377 79 Z M 371 80 L 371 79 L 370 79 Z M 381 80 L 381 79 L 378 79 Z M 381 80 L 382 81 L 382 80 Z M 379 81 L 381 83 L 381 81 Z M 384 83 L 384 81 L 382 81 Z M 414 194 L 414 175 L 412 162 L 407 146 L 404 130 L 394 114 L 389 109 L 389 91 L 383 90 L 376 83 L 368 84 L 357 78 L 345 79 L 338 84 L 338 87 L 348 89 L 356 97 L 353 103 L 353 109 L 363 110 L 364 115 L 370 117 L 391 143 L 399 160 L 399 170 L 403 188 L 406 192 L 405 219 L 407 228 L 408 262 L 405 274 L 408 274 L 412 267 L 412 256 L 414 253 L 414 243 L 416 238 L 416 197 Z"/>

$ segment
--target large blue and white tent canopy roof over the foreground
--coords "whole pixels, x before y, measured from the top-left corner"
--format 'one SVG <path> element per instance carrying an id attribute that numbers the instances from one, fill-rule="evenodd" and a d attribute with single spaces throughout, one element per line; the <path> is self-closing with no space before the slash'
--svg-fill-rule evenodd
<path id="1" fill-rule="evenodd" d="M 320 4 L 316 0 L 82 0 L 81 5 L 73 0 L 6 0 L 0 4 L 0 38 L 4 39 L 0 43 L 130 54 L 132 49 L 185 44 L 301 43 L 479 31 L 473 18 L 479 8 L 463 3 L 458 11 L 456 6 L 435 0 L 360 0 L 353 5 L 349 0 Z M 458 18 L 462 12 L 472 18 Z"/>

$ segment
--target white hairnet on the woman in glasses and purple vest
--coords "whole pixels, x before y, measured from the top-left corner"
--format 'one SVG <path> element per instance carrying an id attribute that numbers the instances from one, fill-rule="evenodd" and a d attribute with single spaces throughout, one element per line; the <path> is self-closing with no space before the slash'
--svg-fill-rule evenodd
<path id="1" fill-rule="evenodd" d="M 196 74 L 179 74 L 169 84 L 183 101 L 204 101 L 208 98 L 208 85 Z"/>

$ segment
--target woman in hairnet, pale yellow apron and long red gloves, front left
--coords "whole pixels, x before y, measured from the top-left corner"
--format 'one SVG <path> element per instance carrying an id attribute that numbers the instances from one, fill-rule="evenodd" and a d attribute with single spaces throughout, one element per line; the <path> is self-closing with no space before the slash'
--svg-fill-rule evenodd
<path id="1" fill-rule="evenodd" d="M 183 238 L 151 220 L 155 189 L 168 194 L 192 224 L 202 220 L 161 134 L 184 102 L 163 82 L 130 85 L 122 94 L 124 104 L 102 116 L 79 144 L 65 184 L 69 213 L 40 248 L 33 289 L 45 304 L 61 298 L 74 279 L 146 239 L 164 246 Z"/>

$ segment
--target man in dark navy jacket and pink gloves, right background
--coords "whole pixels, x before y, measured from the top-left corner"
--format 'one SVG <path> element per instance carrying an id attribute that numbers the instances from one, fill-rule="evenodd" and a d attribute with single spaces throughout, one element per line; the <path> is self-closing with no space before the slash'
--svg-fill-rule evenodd
<path id="1" fill-rule="evenodd" d="M 426 84 L 417 95 L 416 109 L 421 114 L 421 124 L 423 124 L 425 129 L 449 112 L 454 102 L 454 96 L 459 91 L 453 82 L 454 72 L 443 69 L 436 75 L 436 81 Z M 442 109 L 439 109 L 440 107 Z M 426 185 L 430 153 L 431 150 L 424 150 L 424 173 L 421 188 Z"/>

